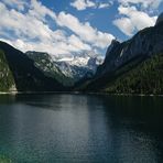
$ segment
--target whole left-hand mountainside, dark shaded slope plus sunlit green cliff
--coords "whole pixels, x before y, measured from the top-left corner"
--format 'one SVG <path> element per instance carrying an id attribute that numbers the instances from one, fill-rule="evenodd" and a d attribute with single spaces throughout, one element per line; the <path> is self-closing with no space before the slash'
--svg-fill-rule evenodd
<path id="1" fill-rule="evenodd" d="M 21 51 L 0 42 L 0 91 L 9 91 L 14 86 L 18 91 L 65 90 L 61 83 L 39 69 Z"/>

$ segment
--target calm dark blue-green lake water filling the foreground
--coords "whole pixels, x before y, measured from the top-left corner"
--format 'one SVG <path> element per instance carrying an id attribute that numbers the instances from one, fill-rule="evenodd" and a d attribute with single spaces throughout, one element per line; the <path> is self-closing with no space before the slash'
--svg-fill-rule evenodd
<path id="1" fill-rule="evenodd" d="M 0 160 L 161 163 L 163 97 L 0 96 Z"/>

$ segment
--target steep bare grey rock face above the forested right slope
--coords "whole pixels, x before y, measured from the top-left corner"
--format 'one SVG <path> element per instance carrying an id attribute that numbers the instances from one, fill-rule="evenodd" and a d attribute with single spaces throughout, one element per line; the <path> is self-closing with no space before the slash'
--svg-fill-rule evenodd
<path id="1" fill-rule="evenodd" d="M 97 69 L 97 75 L 113 72 L 132 59 L 138 63 L 163 52 L 163 22 L 153 28 L 148 28 L 137 33 L 131 40 L 113 42 L 106 54 L 106 59 Z"/>

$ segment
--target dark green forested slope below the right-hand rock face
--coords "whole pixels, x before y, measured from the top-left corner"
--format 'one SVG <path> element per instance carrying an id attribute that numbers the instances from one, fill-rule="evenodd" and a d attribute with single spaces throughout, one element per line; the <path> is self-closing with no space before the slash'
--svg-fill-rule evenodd
<path id="1" fill-rule="evenodd" d="M 163 94 L 163 54 L 156 54 L 122 74 L 102 89 L 117 94 Z"/>

